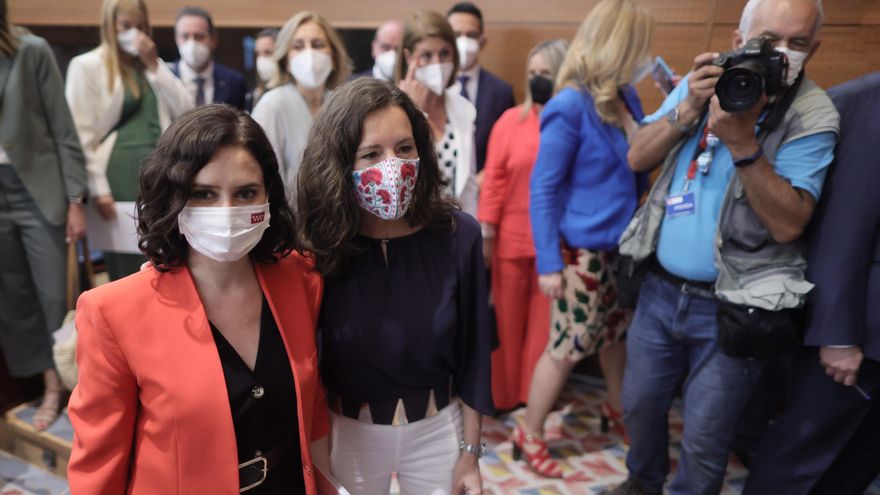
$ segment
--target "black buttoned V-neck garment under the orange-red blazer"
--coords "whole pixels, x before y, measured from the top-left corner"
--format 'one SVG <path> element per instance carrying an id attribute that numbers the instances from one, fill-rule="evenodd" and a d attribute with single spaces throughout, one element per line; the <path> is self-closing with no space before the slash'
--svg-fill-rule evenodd
<path id="1" fill-rule="evenodd" d="M 281 333 L 269 309 L 268 301 L 263 298 L 260 342 L 253 371 L 213 323 L 211 323 L 211 332 L 214 334 L 214 342 L 217 344 L 223 375 L 226 378 L 239 464 L 253 459 L 254 453 L 258 450 L 269 452 L 276 445 L 283 443 L 289 445 L 287 455 L 278 467 L 269 470 L 263 484 L 245 493 L 305 494 L 296 410 L 296 385 L 284 341 L 281 339 Z"/>

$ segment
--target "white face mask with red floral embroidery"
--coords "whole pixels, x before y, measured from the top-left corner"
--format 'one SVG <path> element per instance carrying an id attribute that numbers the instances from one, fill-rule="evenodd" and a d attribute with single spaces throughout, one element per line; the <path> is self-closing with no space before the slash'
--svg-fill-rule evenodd
<path id="1" fill-rule="evenodd" d="M 396 220 L 406 214 L 412 203 L 419 160 L 392 156 L 362 170 L 354 177 L 358 206 L 383 220 Z"/>

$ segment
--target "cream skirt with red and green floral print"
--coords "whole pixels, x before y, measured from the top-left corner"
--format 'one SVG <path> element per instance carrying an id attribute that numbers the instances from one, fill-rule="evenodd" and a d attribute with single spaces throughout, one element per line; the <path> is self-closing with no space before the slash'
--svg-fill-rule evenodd
<path id="1" fill-rule="evenodd" d="M 562 298 L 553 301 L 547 352 L 578 361 L 623 340 L 632 311 L 617 306 L 614 251 L 563 248 Z"/>

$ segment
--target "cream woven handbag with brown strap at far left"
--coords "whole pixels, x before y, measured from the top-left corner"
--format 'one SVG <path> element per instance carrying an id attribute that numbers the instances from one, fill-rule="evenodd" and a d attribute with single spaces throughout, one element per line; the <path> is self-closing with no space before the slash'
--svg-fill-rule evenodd
<path id="1" fill-rule="evenodd" d="M 83 267 L 86 285 L 95 286 L 95 271 L 92 267 L 92 259 L 89 256 L 88 241 L 83 238 L 79 243 L 71 242 L 67 245 L 67 314 L 61 328 L 53 333 L 55 343 L 52 345 L 52 357 L 55 359 L 55 369 L 61 377 L 61 383 L 68 390 L 73 390 L 77 381 L 76 367 L 76 296 L 81 292 L 79 276 L 79 262 L 77 260 L 77 244 L 82 246 Z"/>

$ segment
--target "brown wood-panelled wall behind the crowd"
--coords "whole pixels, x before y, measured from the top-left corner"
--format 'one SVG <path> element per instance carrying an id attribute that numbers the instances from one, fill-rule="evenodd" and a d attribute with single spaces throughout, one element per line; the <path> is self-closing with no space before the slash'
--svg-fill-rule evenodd
<path id="1" fill-rule="evenodd" d="M 174 12 L 186 2 L 147 0 L 152 24 L 171 26 Z M 210 0 L 208 8 L 222 27 L 281 25 L 295 12 L 312 9 L 338 27 L 374 27 L 405 18 L 418 8 L 445 12 L 454 1 L 358 0 Z M 522 95 L 525 57 L 538 42 L 570 39 L 596 0 L 478 0 L 486 19 L 489 44 L 483 65 L 510 81 Z M 688 70 L 694 56 L 730 49 L 730 39 L 745 0 L 641 0 L 657 21 L 652 53 L 662 55 L 677 72 Z M 245 6 L 245 7 L 243 7 Z M 822 47 L 810 62 L 810 76 L 824 87 L 880 69 L 880 1 L 825 0 Z M 9 0 L 13 22 L 43 26 L 94 26 L 98 0 Z M 649 81 L 639 87 L 646 110 L 659 105 Z"/>

